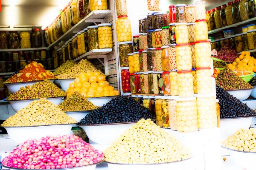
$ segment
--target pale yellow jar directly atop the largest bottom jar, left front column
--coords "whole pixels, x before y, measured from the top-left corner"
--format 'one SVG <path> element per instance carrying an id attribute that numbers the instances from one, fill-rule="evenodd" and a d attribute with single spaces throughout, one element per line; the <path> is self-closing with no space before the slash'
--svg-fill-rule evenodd
<path id="1" fill-rule="evenodd" d="M 178 94 L 180 97 L 192 97 L 194 94 L 193 75 L 191 70 L 177 71 Z"/>

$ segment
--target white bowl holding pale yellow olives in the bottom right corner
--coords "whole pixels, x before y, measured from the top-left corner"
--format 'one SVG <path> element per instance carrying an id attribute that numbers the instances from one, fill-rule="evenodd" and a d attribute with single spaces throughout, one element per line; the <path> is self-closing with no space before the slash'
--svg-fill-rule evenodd
<path id="1" fill-rule="evenodd" d="M 245 168 L 246 170 L 255 170 L 254 161 L 256 160 L 256 152 L 244 152 L 244 151 L 237 151 L 232 150 L 227 147 L 223 147 L 224 149 L 228 150 L 230 153 L 230 158 L 233 162 L 236 162 L 241 168 Z"/>

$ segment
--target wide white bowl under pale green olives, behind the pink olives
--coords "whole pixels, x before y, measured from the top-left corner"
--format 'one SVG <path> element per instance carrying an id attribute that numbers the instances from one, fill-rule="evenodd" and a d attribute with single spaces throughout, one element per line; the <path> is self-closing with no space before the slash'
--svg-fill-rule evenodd
<path id="1" fill-rule="evenodd" d="M 40 139 L 42 136 L 57 136 L 70 134 L 74 124 L 66 125 L 44 125 L 44 126 L 26 126 L 26 127 L 4 127 L 9 137 L 20 144 L 27 139 Z"/>

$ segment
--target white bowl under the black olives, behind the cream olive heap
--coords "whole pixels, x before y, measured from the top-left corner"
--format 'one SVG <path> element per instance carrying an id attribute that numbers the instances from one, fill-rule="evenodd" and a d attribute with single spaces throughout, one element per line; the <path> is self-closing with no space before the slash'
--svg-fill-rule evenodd
<path id="1" fill-rule="evenodd" d="M 88 138 L 97 144 L 111 144 L 129 127 L 137 122 L 113 123 L 102 125 L 79 125 Z"/>

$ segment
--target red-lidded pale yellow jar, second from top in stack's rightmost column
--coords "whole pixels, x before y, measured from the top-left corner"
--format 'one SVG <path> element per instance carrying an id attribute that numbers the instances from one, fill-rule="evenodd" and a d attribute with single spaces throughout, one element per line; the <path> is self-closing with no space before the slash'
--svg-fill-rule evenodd
<path id="1" fill-rule="evenodd" d="M 208 28 L 207 20 L 196 20 L 195 21 L 195 40 L 205 41 L 208 39 Z"/>

